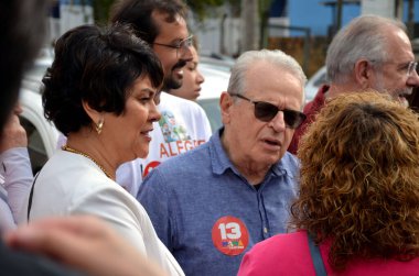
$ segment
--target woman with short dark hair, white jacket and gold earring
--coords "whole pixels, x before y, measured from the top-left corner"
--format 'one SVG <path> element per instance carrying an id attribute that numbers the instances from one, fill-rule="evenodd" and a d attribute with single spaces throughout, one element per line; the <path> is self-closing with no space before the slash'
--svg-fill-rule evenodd
<path id="1" fill-rule="evenodd" d="M 97 216 L 171 275 L 183 275 L 144 209 L 115 181 L 119 165 L 149 152 L 162 81 L 160 60 L 127 25 L 84 25 L 56 42 L 42 98 L 67 142 L 35 178 L 28 218 Z"/>

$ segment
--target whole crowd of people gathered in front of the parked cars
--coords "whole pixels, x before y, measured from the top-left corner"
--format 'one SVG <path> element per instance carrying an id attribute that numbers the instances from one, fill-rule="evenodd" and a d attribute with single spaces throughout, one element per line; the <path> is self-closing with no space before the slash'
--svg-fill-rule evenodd
<path id="1" fill-rule="evenodd" d="M 0 1 L 0 274 L 419 275 L 419 76 L 401 22 L 342 29 L 305 106 L 294 58 L 243 53 L 212 134 L 185 3 L 117 1 L 108 26 L 55 43 L 42 100 L 63 139 L 33 177 L 18 97 L 46 5 Z"/>

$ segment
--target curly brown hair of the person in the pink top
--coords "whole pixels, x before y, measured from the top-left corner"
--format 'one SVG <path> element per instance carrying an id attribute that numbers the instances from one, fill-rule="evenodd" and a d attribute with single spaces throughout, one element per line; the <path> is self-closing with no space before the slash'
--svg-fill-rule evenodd
<path id="1" fill-rule="evenodd" d="M 329 101 L 301 140 L 300 197 L 291 227 L 318 243 L 329 263 L 409 261 L 419 255 L 419 118 L 375 91 Z"/>

